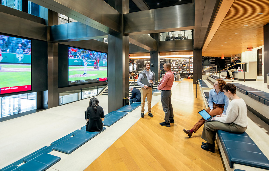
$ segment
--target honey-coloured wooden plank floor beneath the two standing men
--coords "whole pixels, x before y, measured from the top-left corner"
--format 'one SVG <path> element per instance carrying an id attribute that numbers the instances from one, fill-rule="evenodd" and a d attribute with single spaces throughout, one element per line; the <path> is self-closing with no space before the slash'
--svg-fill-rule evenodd
<path id="1" fill-rule="evenodd" d="M 204 109 L 200 90 L 183 80 L 172 89 L 175 123 L 160 126 L 164 121 L 161 101 L 152 107 L 153 118 L 139 119 L 126 133 L 102 153 L 85 171 L 93 170 L 223 170 L 221 158 L 201 149 L 202 128 L 188 138 L 183 129 L 191 129 Z M 139 113 L 140 115 L 140 113 Z"/>

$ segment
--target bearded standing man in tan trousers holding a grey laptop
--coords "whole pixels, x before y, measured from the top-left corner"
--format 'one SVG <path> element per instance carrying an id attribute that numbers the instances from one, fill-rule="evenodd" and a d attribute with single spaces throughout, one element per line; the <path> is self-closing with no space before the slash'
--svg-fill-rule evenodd
<path id="1" fill-rule="evenodd" d="M 152 88 L 153 85 L 155 84 L 155 74 L 153 71 L 150 70 L 150 63 L 146 62 L 145 63 L 145 70 L 143 70 L 137 79 L 137 84 L 139 86 L 141 86 L 141 117 L 144 117 L 144 113 L 145 113 L 145 100 L 147 97 L 147 112 L 149 117 L 153 117 L 152 113 L 151 113 L 151 96 L 152 96 Z M 143 78 L 147 78 L 148 82 L 149 82 L 149 86 L 144 85 L 141 83 L 141 79 Z"/>

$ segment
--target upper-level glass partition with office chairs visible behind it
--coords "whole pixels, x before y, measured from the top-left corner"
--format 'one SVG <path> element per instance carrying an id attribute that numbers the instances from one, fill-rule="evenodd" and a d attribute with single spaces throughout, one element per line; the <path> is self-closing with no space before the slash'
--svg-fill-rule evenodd
<path id="1" fill-rule="evenodd" d="M 159 34 L 160 41 L 192 39 L 192 30 L 171 31 Z"/>

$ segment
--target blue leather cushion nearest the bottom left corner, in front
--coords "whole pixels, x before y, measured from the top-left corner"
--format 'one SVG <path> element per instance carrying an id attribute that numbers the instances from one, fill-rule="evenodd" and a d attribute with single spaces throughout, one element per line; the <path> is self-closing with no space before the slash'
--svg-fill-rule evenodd
<path id="1" fill-rule="evenodd" d="M 15 168 L 16 171 L 43 171 L 50 168 L 52 165 L 60 161 L 61 158 L 43 153 L 39 156 L 33 158 L 32 160 L 22 164 L 21 166 Z"/>

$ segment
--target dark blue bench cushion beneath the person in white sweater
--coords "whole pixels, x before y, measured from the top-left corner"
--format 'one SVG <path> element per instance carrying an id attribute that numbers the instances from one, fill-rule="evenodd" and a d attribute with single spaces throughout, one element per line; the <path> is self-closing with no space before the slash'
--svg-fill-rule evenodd
<path id="1" fill-rule="evenodd" d="M 268 158 L 246 132 L 236 134 L 218 130 L 217 135 L 230 168 L 233 168 L 233 164 L 237 163 L 269 169 Z"/>

